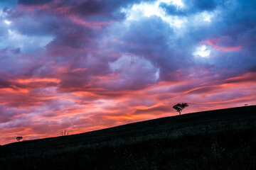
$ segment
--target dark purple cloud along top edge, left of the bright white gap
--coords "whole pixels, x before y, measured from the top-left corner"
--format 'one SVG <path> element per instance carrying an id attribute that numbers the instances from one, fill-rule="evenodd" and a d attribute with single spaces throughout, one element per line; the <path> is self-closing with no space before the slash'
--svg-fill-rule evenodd
<path id="1" fill-rule="evenodd" d="M 79 16 L 92 16 L 94 20 L 103 18 L 124 18 L 124 13 L 119 11 L 120 8 L 139 3 L 143 0 L 119 1 L 119 0 L 73 0 L 73 1 L 55 1 L 55 0 L 19 0 L 19 4 L 26 6 L 33 5 L 51 5 L 58 8 L 65 14 L 75 13 Z M 155 1 L 155 0 L 144 0 Z M 63 9 L 63 10 L 62 10 Z M 100 17 L 99 17 L 100 16 Z"/>

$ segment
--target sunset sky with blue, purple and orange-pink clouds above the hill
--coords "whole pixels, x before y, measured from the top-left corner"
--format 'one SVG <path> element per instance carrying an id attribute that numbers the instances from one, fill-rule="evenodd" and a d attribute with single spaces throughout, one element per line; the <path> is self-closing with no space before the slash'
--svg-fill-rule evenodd
<path id="1" fill-rule="evenodd" d="M 256 104 L 255 0 L 1 0 L 0 145 Z"/>

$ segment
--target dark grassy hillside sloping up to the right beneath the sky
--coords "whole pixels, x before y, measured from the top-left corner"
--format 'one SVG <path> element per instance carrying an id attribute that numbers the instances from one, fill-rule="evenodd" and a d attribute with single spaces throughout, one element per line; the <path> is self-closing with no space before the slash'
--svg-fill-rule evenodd
<path id="1" fill-rule="evenodd" d="M 256 106 L 0 147 L 0 169 L 256 169 Z"/>

